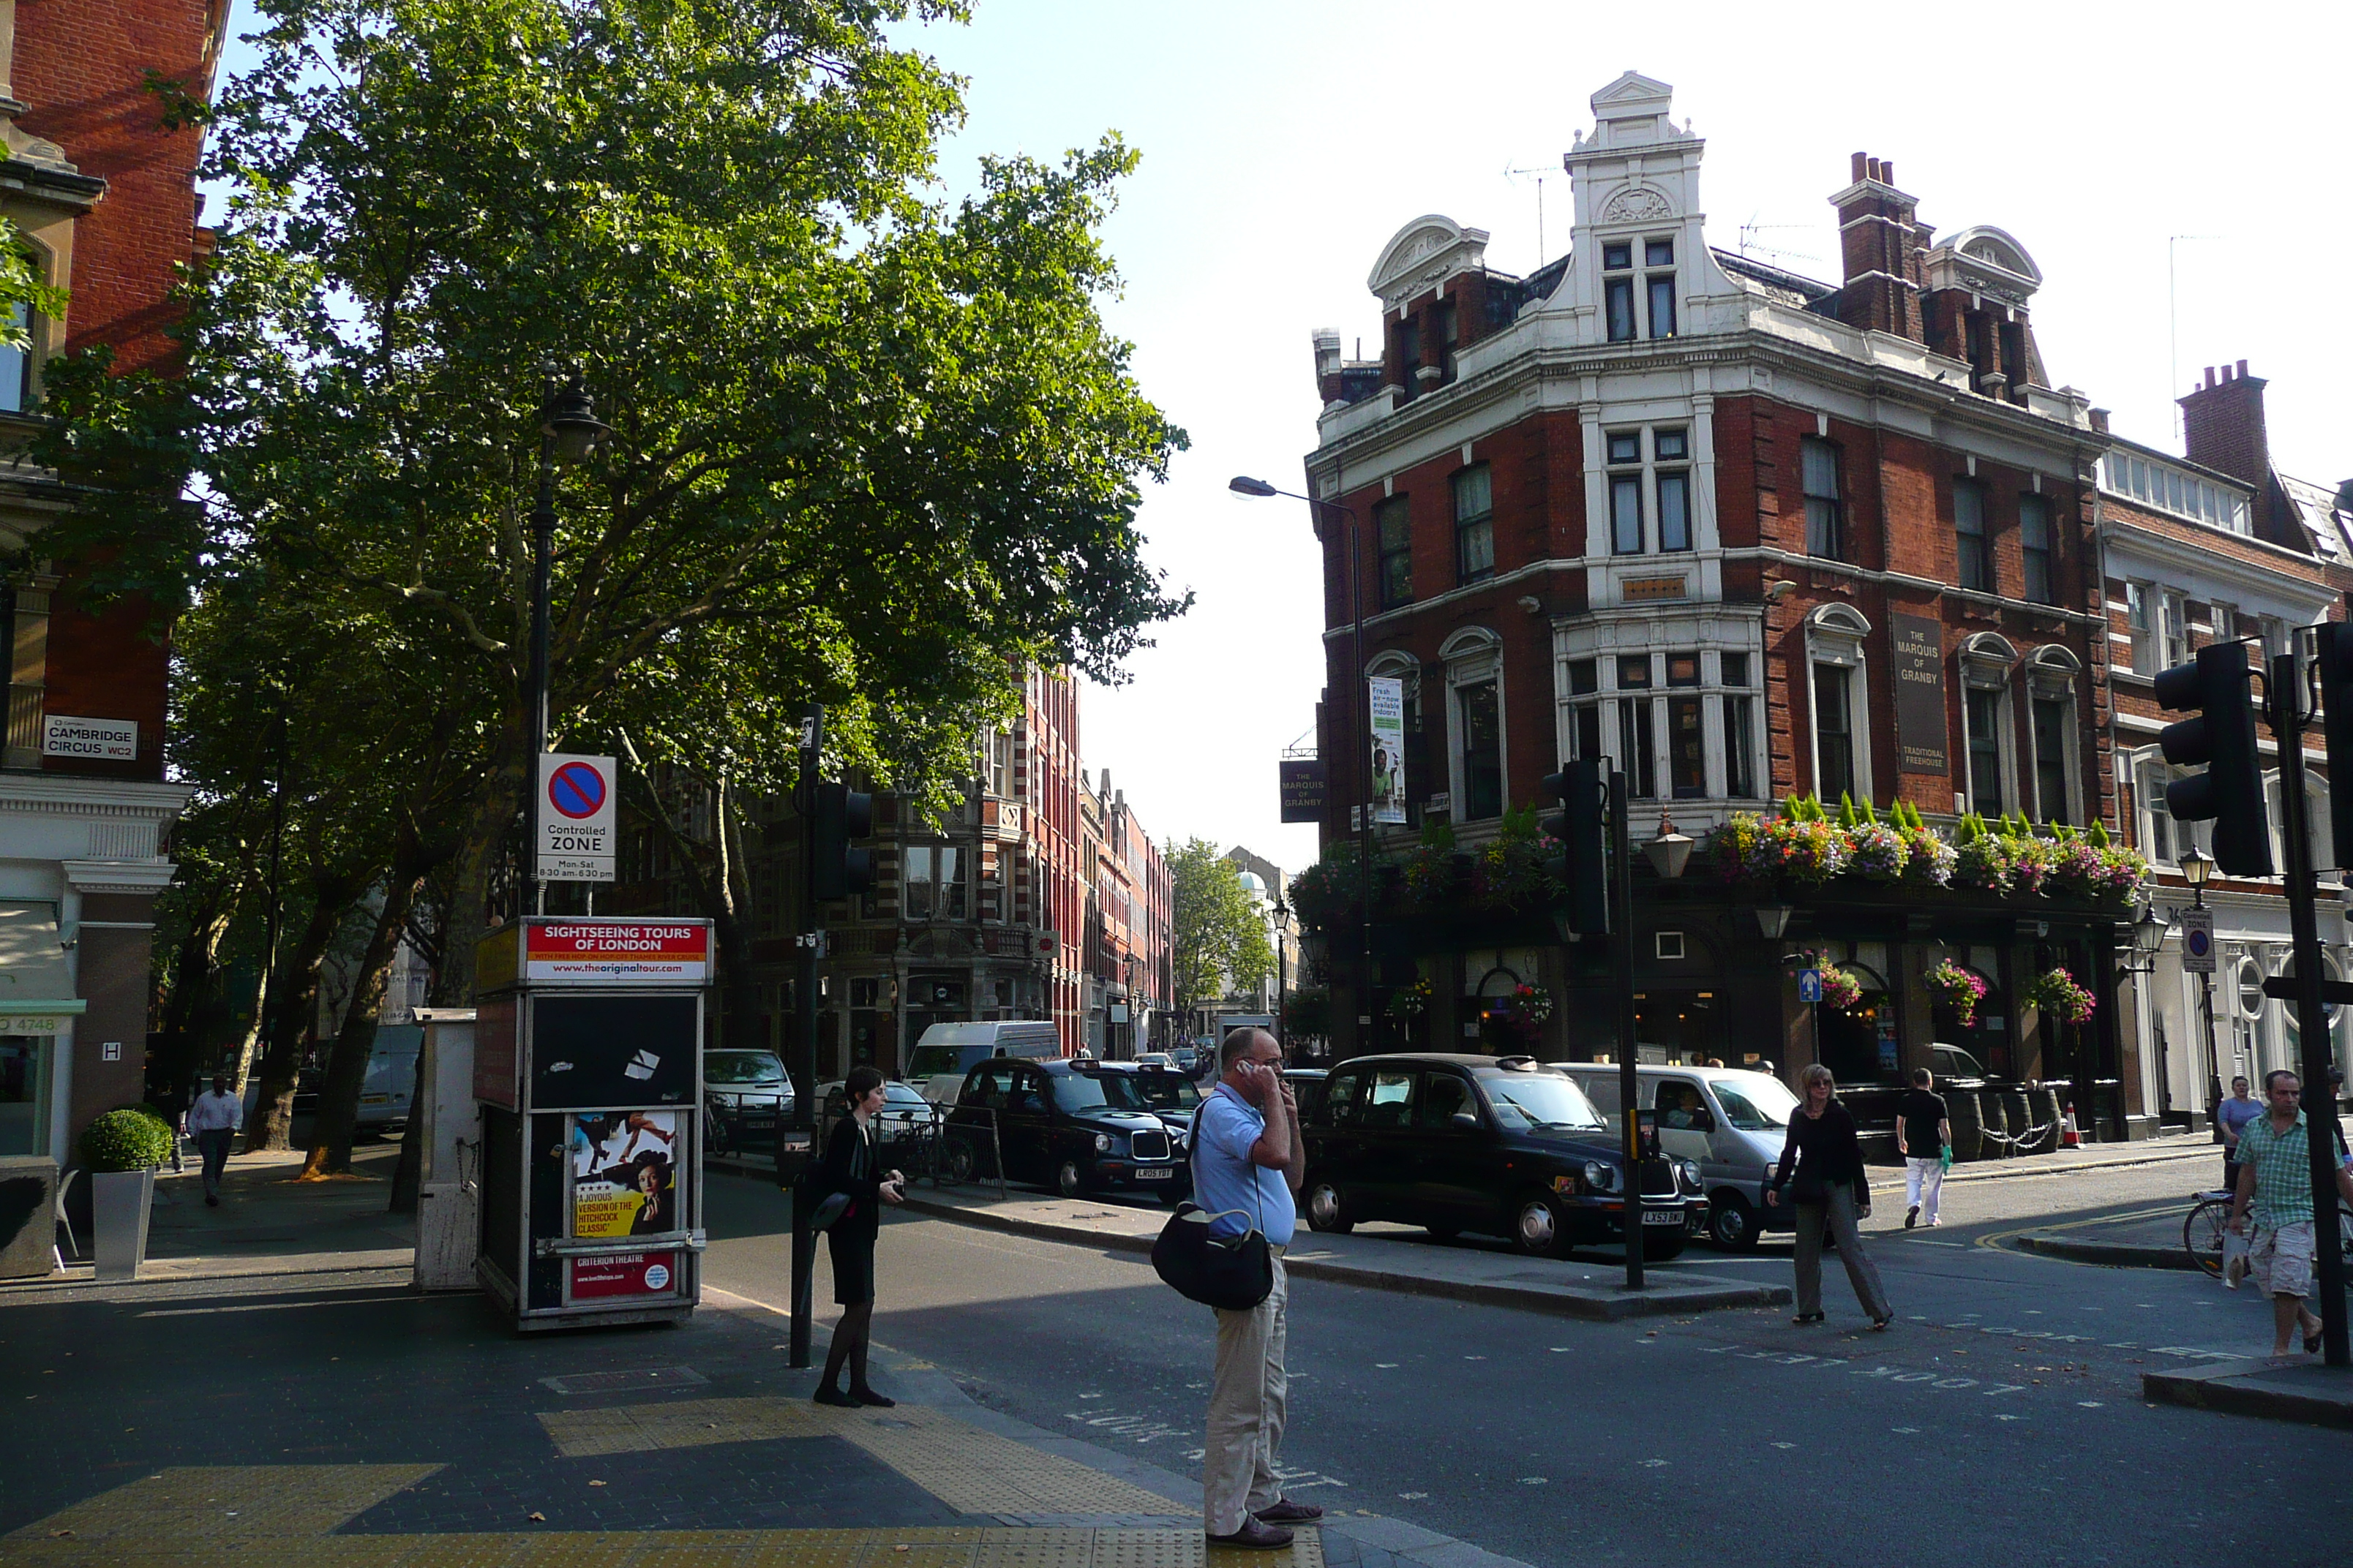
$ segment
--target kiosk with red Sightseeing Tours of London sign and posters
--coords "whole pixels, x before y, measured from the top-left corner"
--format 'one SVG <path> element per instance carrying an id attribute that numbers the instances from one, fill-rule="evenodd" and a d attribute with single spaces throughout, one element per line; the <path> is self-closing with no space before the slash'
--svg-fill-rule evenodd
<path id="1" fill-rule="evenodd" d="M 518 1331 L 682 1319 L 701 1293 L 706 919 L 482 938 L 482 1288 Z"/>

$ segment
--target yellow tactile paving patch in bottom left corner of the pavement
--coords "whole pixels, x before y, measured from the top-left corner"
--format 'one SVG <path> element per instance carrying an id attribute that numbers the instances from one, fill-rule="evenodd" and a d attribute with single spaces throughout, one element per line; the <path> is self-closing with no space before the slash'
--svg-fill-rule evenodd
<path id="1" fill-rule="evenodd" d="M 7 1537 L 101 1542 L 118 1535 L 195 1544 L 325 1535 L 440 1465 L 207 1465 L 167 1469 Z M 61 1535 L 71 1533 L 71 1535 Z M 0 1559 L 5 1561 L 5 1559 Z"/>

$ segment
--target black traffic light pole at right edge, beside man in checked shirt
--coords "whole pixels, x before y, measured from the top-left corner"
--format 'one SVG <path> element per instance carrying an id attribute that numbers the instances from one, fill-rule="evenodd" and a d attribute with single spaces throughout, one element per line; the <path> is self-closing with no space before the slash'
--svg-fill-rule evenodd
<path id="1" fill-rule="evenodd" d="M 2280 837 L 2287 839 L 2287 929 L 2297 973 L 2289 983 L 2304 1044 L 2304 1133 L 2313 1159 L 2313 1258 L 2320 1276 L 2320 1340 L 2329 1366 L 2353 1366 L 2346 1340 L 2346 1262 L 2337 1227 L 2337 1091 L 2329 1084 L 2329 1020 L 2320 987 L 2320 917 L 2313 907 L 2311 799 L 2304 795 L 2304 661 L 2271 661 L 2271 733 L 2280 743 Z M 2332 780 L 2334 783 L 2334 780 Z M 2271 990 L 2268 985 L 2264 987 Z"/>

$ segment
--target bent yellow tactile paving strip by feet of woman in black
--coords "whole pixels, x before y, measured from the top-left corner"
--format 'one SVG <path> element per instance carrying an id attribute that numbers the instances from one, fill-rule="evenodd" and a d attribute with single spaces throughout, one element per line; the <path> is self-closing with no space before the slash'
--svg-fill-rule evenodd
<path id="1" fill-rule="evenodd" d="M 929 1406 L 840 1410 L 807 1399 L 675 1399 L 602 1410 L 546 1410 L 539 1422 L 555 1441 L 555 1450 L 567 1458 L 774 1436 L 840 1436 L 958 1514 L 1191 1512 L 1188 1502 L 1172 1502 L 1099 1469 L 1038 1453 Z"/>

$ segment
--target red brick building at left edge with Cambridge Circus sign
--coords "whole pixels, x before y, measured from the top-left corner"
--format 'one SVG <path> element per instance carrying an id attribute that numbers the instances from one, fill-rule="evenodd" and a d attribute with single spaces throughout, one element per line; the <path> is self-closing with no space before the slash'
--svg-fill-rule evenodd
<path id="1" fill-rule="evenodd" d="M 0 214 L 59 320 L 0 350 L 0 545 L 9 552 L 9 701 L 0 738 L 0 1154 L 66 1161 L 101 1110 L 141 1098 L 148 938 L 172 879 L 165 835 L 167 651 L 146 607 L 82 604 L 40 555 L 64 498 L 21 461 L 42 360 L 106 346 L 118 369 L 165 364 L 176 268 L 205 254 L 195 129 L 162 129 L 148 73 L 209 92 L 226 5 L 24 0 L 0 7 Z"/>

